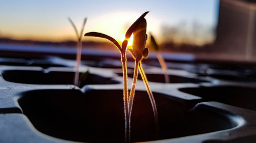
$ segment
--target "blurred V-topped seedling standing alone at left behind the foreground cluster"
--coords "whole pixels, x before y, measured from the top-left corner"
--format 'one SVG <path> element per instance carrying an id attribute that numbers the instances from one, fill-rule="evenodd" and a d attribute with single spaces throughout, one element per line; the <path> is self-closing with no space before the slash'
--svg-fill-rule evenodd
<path id="1" fill-rule="evenodd" d="M 84 29 L 84 25 L 86 25 L 87 18 L 84 18 L 83 23 L 82 23 L 82 28 L 80 33 L 78 33 L 76 25 L 74 22 L 71 20 L 71 18 L 68 18 L 72 27 L 75 30 L 76 37 L 77 37 L 77 53 L 76 53 L 76 68 L 75 68 L 75 77 L 74 77 L 74 85 L 78 87 L 78 78 L 79 78 L 79 66 L 81 62 L 81 51 L 82 51 L 82 33 Z"/>

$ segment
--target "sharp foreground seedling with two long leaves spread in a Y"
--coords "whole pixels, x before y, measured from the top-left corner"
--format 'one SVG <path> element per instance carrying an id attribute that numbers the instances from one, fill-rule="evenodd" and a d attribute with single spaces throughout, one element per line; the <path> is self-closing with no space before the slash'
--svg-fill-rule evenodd
<path id="1" fill-rule="evenodd" d="M 127 44 L 128 41 L 131 37 L 131 35 L 134 33 L 136 30 L 138 24 L 140 23 L 141 20 L 144 19 L 144 16 L 148 12 L 145 12 L 142 14 L 127 30 L 125 34 L 125 39 L 122 42 L 122 46 L 112 37 L 102 34 L 102 33 L 97 33 L 97 32 L 90 32 L 84 34 L 84 36 L 93 36 L 93 37 L 100 37 L 100 38 L 105 38 L 110 40 L 112 43 L 115 44 L 115 46 L 118 48 L 120 54 L 121 54 L 121 63 L 122 63 L 122 69 L 123 69 L 123 101 L 124 101 L 124 117 L 125 117 L 125 142 L 130 142 L 131 138 L 131 129 L 130 129 L 130 111 L 129 111 L 129 91 L 128 91 L 128 82 L 127 82 L 127 66 L 126 66 L 126 50 L 127 50 Z"/>

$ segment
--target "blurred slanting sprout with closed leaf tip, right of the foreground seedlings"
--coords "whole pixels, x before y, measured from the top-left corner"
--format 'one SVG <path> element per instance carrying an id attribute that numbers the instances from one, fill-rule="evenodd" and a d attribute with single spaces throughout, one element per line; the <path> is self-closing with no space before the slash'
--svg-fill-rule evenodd
<path id="1" fill-rule="evenodd" d="M 169 83 L 169 76 L 168 76 L 168 73 L 167 73 L 168 68 L 167 68 L 166 63 L 163 59 L 163 56 L 162 56 L 162 54 L 159 50 L 159 46 L 158 46 L 155 38 L 153 37 L 153 35 L 151 33 L 150 33 L 150 44 L 149 44 L 149 46 L 151 47 L 151 49 L 156 51 L 157 59 L 158 59 L 160 65 L 161 65 L 161 68 L 162 68 L 163 72 L 164 72 L 164 80 L 165 80 L 166 83 Z"/>

